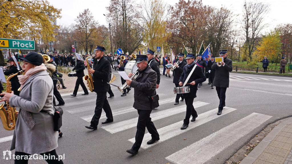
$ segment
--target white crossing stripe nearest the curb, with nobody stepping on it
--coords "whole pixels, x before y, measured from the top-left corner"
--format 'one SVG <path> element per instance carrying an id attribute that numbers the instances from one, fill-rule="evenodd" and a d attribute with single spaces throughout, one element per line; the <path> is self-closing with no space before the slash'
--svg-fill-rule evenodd
<path id="1" fill-rule="evenodd" d="M 214 132 L 208 137 L 171 154 L 166 159 L 176 164 L 205 163 L 271 117 L 265 114 L 252 113 Z"/>

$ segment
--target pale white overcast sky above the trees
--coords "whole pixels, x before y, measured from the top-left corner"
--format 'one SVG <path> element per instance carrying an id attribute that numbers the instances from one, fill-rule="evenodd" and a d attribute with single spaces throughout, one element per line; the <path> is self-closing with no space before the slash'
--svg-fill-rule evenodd
<path id="1" fill-rule="evenodd" d="M 62 18 L 57 19 L 57 25 L 70 25 L 71 23 L 76 23 L 74 19 L 77 18 L 79 13 L 83 12 L 84 9 L 89 8 L 93 13 L 95 20 L 97 20 L 101 25 L 108 26 L 107 18 L 103 14 L 107 14 L 106 9 L 109 6 L 110 0 L 48 0 L 48 2 L 55 8 L 61 8 Z M 137 0 L 142 1 L 142 0 Z M 179 0 L 164 0 L 169 5 L 175 5 Z M 214 6 L 220 8 L 225 6 L 232 10 L 234 14 L 242 13 L 242 6 L 244 0 L 202 0 L 204 5 Z M 266 23 L 270 23 L 270 27 L 265 31 L 268 31 L 278 24 L 292 24 L 292 12 L 291 6 L 292 1 L 288 0 L 260 0 L 259 2 L 270 4 L 270 12 L 267 14 Z"/>

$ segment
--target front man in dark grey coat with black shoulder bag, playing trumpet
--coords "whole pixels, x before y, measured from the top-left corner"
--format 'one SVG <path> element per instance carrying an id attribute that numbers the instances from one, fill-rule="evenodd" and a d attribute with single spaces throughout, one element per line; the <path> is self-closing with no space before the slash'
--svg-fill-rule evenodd
<path id="1" fill-rule="evenodd" d="M 146 127 L 152 136 L 152 139 L 149 140 L 147 144 L 153 144 L 159 140 L 159 134 L 150 118 L 152 109 L 159 106 L 158 100 L 157 102 L 150 102 L 151 97 L 156 95 L 157 73 L 149 67 L 147 55 L 137 55 L 135 60 L 137 63 L 139 76 L 136 78 L 136 81 L 132 81 L 131 79 L 126 80 L 126 83 L 130 85 L 130 87 L 134 88 L 133 107 L 137 109 L 139 114 L 135 143 L 131 149 L 127 150 L 127 152 L 132 155 L 138 153 Z M 132 74 L 129 73 L 129 77 L 131 75 Z"/>

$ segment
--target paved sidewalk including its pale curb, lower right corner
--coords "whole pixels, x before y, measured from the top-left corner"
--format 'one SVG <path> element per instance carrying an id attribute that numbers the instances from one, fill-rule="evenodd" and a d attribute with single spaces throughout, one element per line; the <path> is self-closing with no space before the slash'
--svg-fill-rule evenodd
<path id="1" fill-rule="evenodd" d="M 282 121 L 240 164 L 292 164 L 292 117 Z"/>

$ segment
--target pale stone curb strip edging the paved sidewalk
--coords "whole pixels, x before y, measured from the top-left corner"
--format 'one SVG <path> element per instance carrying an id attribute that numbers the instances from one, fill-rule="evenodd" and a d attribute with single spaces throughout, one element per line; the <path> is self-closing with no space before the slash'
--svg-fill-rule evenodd
<path id="1" fill-rule="evenodd" d="M 279 123 L 269 134 L 249 153 L 240 164 L 252 164 L 263 153 L 267 146 L 273 141 L 278 133 L 287 125 L 292 123 L 292 117 L 285 118 L 285 121 Z"/>

